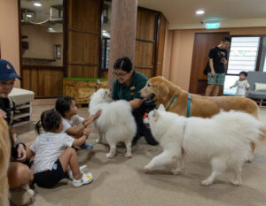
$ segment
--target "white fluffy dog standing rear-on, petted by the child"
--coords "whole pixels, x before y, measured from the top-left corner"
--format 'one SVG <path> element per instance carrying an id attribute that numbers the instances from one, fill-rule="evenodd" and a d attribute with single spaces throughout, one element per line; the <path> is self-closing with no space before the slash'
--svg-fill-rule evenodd
<path id="1" fill-rule="evenodd" d="M 131 113 L 132 109 L 127 101 L 112 102 L 109 95 L 109 89 L 100 88 L 90 96 L 90 114 L 94 114 L 99 110 L 102 111 L 101 116 L 94 121 L 98 129 L 97 142 L 100 142 L 102 136 L 105 135 L 110 146 L 110 152 L 106 156 L 113 158 L 117 142 L 122 141 L 127 147 L 125 156 L 130 157 L 131 141 L 137 133 L 136 122 Z"/>

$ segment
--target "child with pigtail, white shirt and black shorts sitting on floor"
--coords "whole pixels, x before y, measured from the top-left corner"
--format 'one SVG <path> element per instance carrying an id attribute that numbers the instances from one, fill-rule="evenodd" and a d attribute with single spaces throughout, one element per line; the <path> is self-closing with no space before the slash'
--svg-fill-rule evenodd
<path id="1" fill-rule="evenodd" d="M 41 134 L 41 127 L 46 133 Z M 66 133 L 61 133 L 62 129 L 62 117 L 55 110 L 43 111 L 41 120 L 35 125 L 35 130 L 40 135 L 30 149 L 35 153 L 34 175 L 39 187 L 55 186 L 66 177 L 66 172 L 73 179 L 74 187 L 81 187 L 92 181 L 90 172 L 80 171 L 76 152 L 71 148 L 82 145 L 90 133 L 85 130 L 80 139 L 74 140 Z"/>

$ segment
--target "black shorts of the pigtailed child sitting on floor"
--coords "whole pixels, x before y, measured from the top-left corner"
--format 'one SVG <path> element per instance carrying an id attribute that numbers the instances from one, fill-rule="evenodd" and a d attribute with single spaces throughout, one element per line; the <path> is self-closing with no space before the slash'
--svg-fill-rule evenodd
<path id="1" fill-rule="evenodd" d="M 66 177 L 62 164 L 59 159 L 53 164 L 51 171 L 35 173 L 35 182 L 39 187 L 53 187 L 61 179 Z"/>

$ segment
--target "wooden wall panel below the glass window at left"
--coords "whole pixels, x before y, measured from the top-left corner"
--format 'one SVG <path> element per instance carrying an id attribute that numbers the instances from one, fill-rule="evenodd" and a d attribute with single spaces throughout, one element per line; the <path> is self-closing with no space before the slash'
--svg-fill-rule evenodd
<path id="1" fill-rule="evenodd" d="M 23 88 L 35 92 L 35 97 L 63 95 L 63 67 L 23 65 Z"/>

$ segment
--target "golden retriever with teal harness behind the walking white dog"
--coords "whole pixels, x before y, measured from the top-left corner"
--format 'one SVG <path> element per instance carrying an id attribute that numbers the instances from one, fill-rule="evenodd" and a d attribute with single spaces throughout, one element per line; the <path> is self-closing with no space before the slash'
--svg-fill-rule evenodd
<path id="1" fill-rule="evenodd" d="M 140 90 L 140 94 L 146 98 L 147 102 L 155 101 L 158 106 L 162 103 L 167 111 L 183 116 L 187 114 L 189 93 L 161 76 L 149 79 L 145 88 Z M 172 102 L 175 96 L 176 99 Z M 194 94 L 192 94 L 189 116 L 210 118 L 219 113 L 221 109 L 223 111 L 246 111 L 258 118 L 258 106 L 251 99 L 239 96 L 202 96 Z M 253 152 L 248 158 L 249 161 L 253 159 L 254 143 L 251 147 Z"/>

